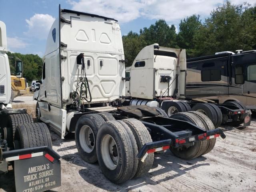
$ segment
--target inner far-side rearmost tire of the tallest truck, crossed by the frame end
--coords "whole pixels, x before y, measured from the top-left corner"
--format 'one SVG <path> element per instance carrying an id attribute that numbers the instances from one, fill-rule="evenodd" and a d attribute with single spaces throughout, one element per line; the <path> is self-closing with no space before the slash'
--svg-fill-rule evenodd
<path id="1" fill-rule="evenodd" d="M 185 120 L 204 129 L 204 124 L 202 123 L 200 118 L 198 118 L 195 114 L 189 112 L 176 113 L 173 114 L 170 118 Z M 179 158 L 189 160 L 201 156 L 205 152 L 206 146 L 207 141 L 203 140 L 199 142 L 194 142 L 194 146 L 190 146 L 188 148 L 184 146 L 181 148 L 181 150 L 180 148 L 171 147 L 170 151 Z"/>

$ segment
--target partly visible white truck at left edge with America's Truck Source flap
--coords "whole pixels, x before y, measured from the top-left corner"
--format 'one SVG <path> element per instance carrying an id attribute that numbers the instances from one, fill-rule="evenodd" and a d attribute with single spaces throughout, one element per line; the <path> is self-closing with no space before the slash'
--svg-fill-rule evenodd
<path id="1" fill-rule="evenodd" d="M 10 65 L 6 52 L 6 26 L 0 21 L 0 174 L 7 173 L 8 166 L 12 165 L 17 192 L 50 190 L 61 184 L 60 156 L 52 150 L 46 124 L 34 123 L 26 109 L 12 108 Z M 22 62 L 17 61 L 16 74 L 21 77 L 22 73 Z M 40 169 L 35 170 L 35 167 Z M 52 174 L 40 178 L 39 175 L 49 170 Z M 4 184 L 5 179 L 1 176 L 0 182 Z M 13 186 L 13 182 L 10 185 Z"/>

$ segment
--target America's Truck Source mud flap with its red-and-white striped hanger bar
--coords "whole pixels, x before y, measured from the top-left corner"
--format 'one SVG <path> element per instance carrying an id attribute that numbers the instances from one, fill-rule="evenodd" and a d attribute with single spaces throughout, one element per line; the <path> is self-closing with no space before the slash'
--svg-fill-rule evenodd
<path id="1" fill-rule="evenodd" d="M 60 156 L 48 147 L 12 150 L 3 153 L 14 160 L 16 192 L 43 192 L 61 186 Z"/>

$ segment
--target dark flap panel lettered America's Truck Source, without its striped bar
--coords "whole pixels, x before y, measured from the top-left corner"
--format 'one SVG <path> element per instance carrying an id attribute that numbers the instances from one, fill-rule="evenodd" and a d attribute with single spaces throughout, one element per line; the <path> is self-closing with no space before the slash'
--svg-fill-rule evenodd
<path id="1" fill-rule="evenodd" d="M 44 156 L 14 161 L 16 192 L 42 192 L 61 185 L 60 160 Z"/>

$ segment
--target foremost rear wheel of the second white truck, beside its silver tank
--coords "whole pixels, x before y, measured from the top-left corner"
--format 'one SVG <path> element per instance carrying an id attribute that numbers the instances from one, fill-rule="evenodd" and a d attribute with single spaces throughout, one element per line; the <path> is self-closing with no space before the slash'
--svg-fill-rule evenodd
<path id="1" fill-rule="evenodd" d="M 166 112 L 168 117 L 175 113 L 186 112 L 184 104 L 182 104 L 180 101 L 163 101 L 161 104 L 161 109 Z"/>

